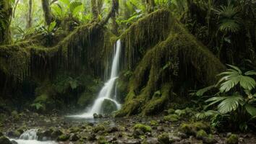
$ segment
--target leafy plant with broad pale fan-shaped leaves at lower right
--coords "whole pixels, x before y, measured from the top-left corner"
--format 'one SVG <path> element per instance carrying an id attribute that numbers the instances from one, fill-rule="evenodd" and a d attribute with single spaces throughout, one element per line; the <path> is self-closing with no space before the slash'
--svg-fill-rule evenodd
<path id="1" fill-rule="evenodd" d="M 239 122 L 239 128 L 247 129 L 247 123 L 256 117 L 256 94 L 252 94 L 255 90 L 256 82 L 252 76 L 256 76 L 255 71 L 247 71 L 243 73 L 238 67 L 228 65 L 229 69 L 220 73 L 218 76 L 222 78 L 214 86 L 209 86 L 200 89 L 195 93 L 197 96 L 202 96 L 210 89 L 217 88 L 218 92 L 213 97 L 205 102 L 209 107 L 214 107 L 218 104 L 217 110 L 200 112 L 196 114 L 198 119 L 207 119 L 212 117 L 215 123 L 221 117 L 229 117 L 229 120 Z"/>

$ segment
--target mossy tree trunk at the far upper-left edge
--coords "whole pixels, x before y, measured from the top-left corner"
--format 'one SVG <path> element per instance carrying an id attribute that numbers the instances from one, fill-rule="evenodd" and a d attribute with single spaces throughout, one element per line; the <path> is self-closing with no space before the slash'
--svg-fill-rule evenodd
<path id="1" fill-rule="evenodd" d="M 0 3 L 0 45 L 5 45 L 11 42 L 9 26 L 12 19 L 12 6 L 9 0 L 1 0 Z"/>

